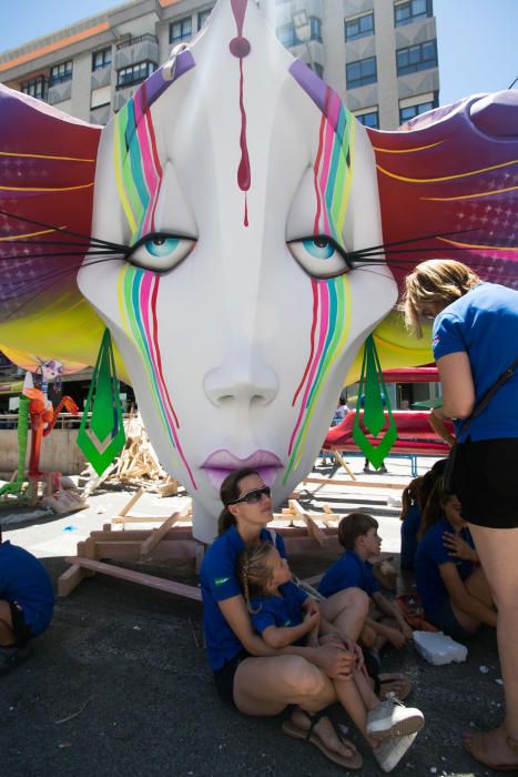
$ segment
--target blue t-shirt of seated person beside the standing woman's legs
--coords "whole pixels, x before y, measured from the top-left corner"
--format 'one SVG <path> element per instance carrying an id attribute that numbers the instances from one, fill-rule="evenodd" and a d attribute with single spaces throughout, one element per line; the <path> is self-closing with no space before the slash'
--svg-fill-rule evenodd
<path id="1" fill-rule="evenodd" d="M 433 620 L 434 614 L 449 599 L 448 589 L 443 583 L 439 566 L 441 564 L 455 564 L 460 579 L 465 581 L 475 568 L 473 562 L 463 561 L 450 556 L 445 546 L 443 535 L 445 532 L 455 534 L 455 528 L 447 518 L 440 518 L 430 526 L 417 546 L 415 558 L 415 576 L 417 593 L 420 596 L 426 615 Z M 474 546 L 468 528 L 460 531 L 460 536 L 471 547 Z"/>

